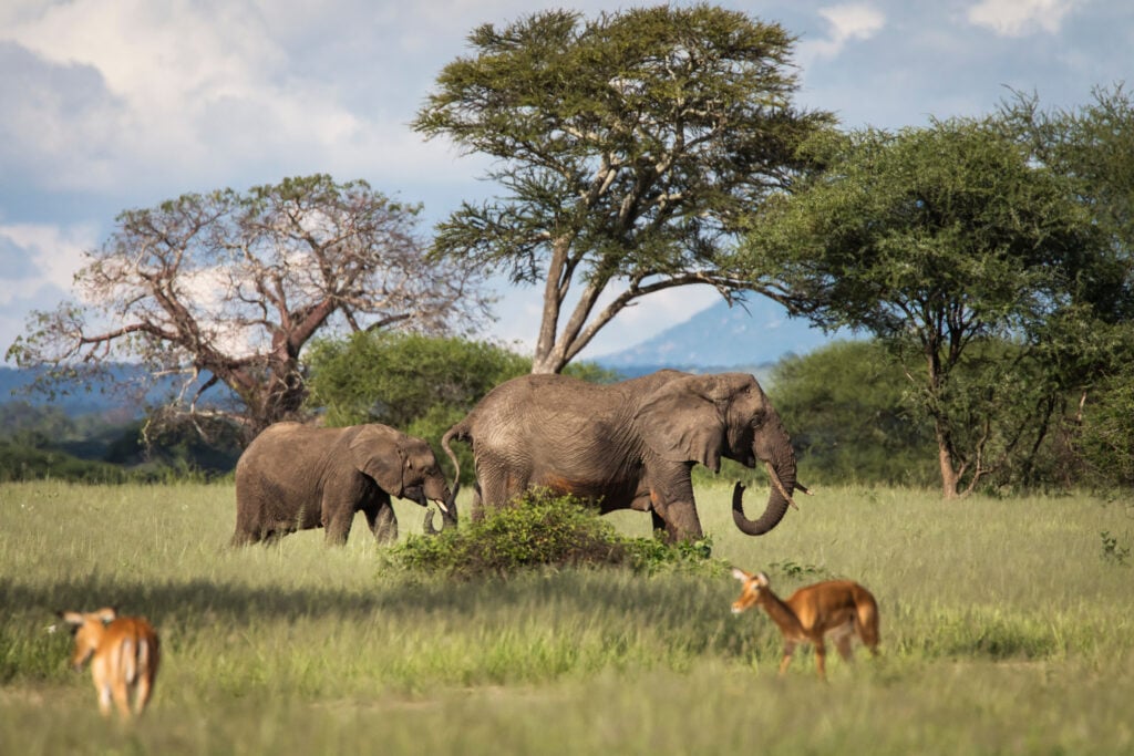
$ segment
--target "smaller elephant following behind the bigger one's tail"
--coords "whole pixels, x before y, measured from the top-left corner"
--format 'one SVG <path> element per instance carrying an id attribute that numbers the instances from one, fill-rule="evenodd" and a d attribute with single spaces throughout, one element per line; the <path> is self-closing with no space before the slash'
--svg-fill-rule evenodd
<path id="1" fill-rule="evenodd" d="M 236 464 L 232 544 L 271 542 L 318 527 L 325 529 L 327 543 L 345 544 L 358 511 L 378 542 L 386 543 L 398 537 L 390 496 L 426 508 L 429 500 L 437 501 L 445 521 L 457 521 L 455 496 L 422 439 L 376 423 L 339 428 L 277 423 Z M 428 526 L 431 516 L 426 511 Z"/>

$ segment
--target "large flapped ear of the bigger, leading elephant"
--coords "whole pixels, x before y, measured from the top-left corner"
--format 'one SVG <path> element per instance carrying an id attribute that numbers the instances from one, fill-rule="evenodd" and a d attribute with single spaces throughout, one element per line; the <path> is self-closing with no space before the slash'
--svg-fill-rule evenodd
<path id="1" fill-rule="evenodd" d="M 729 394 L 712 375 L 670 381 L 638 407 L 635 423 L 655 455 L 672 462 L 701 462 L 720 472 L 725 410 Z"/>

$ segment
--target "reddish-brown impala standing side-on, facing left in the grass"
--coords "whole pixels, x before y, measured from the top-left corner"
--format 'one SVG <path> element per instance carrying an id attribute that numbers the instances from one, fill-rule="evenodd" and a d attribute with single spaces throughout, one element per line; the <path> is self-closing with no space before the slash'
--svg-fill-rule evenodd
<path id="1" fill-rule="evenodd" d="M 760 606 L 776 622 L 784 636 L 784 659 L 779 673 L 787 671 L 792 654 L 799 644 L 815 646 L 819 677 L 827 679 L 827 646 L 830 636 L 847 662 L 853 661 L 850 643 L 855 635 L 878 655 L 878 602 L 853 580 L 826 580 L 799 588 L 784 601 L 775 593 L 763 572 L 752 575 L 734 567 L 733 577 L 744 584 L 741 596 L 733 602 L 733 613 L 739 614 Z"/>

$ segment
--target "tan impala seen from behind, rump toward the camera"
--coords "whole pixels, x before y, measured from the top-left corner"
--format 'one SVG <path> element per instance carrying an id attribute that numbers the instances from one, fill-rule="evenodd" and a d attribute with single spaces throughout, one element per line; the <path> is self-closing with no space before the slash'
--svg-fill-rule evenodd
<path id="1" fill-rule="evenodd" d="M 71 665 L 79 669 L 91 662 L 99 711 L 109 715 L 113 703 L 124 719 L 132 713 L 141 714 L 150 703 L 161 661 L 153 627 L 141 617 L 118 617 L 111 608 L 59 612 L 59 617 L 71 626 L 75 635 Z"/>

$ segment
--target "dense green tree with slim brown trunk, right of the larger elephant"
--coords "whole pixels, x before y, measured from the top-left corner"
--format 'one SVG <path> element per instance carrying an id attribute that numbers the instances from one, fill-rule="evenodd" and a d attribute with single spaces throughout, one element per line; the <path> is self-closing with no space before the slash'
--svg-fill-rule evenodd
<path id="1" fill-rule="evenodd" d="M 780 277 L 814 322 L 894 350 L 932 422 L 943 495 L 964 495 L 1050 426 L 1060 366 L 1084 348 L 1061 337 L 1090 330 L 1122 271 L 1072 185 L 1002 121 L 818 148 L 829 170 L 754 221 L 752 275 Z"/>

